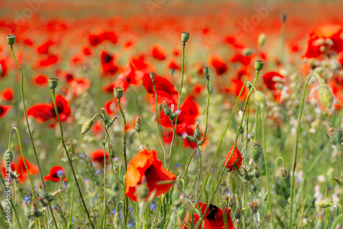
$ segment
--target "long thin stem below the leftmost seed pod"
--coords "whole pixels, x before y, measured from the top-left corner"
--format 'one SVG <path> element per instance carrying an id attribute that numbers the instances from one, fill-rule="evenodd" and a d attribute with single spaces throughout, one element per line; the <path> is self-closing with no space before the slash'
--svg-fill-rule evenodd
<path id="1" fill-rule="evenodd" d="M 40 174 L 40 179 L 41 179 L 41 182 L 43 184 L 43 187 L 44 187 L 45 191 L 47 191 L 47 186 L 45 186 L 45 181 L 44 181 L 42 169 L 40 168 L 40 164 L 39 164 L 39 160 L 38 160 L 38 156 L 37 156 L 37 152 L 36 152 L 36 147 L 34 146 L 34 138 L 32 138 L 31 128 L 29 127 L 29 119 L 27 118 L 26 105 L 25 105 L 24 74 L 23 74 L 23 70 L 21 69 L 21 66 L 19 65 L 18 61 L 16 60 L 16 56 L 14 55 L 12 45 L 10 46 L 10 50 L 11 50 L 12 56 L 14 58 L 14 61 L 16 61 L 16 66 L 18 66 L 19 71 L 21 72 L 21 98 L 23 100 L 23 109 L 24 109 L 24 114 L 25 114 L 27 130 L 29 131 L 29 139 L 31 140 L 32 148 L 34 149 L 34 158 L 36 159 L 36 163 L 37 163 L 39 174 Z M 49 208 L 50 208 L 50 212 L 51 212 L 51 215 L 52 215 L 52 219 L 54 219 L 55 227 L 56 227 L 56 229 L 58 229 L 58 226 L 57 226 L 57 223 L 56 223 L 56 219 L 55 219 L 54 214 L 52 212 L 52 208 L 51 208 L 51 204 L 50 203 L 49 203 Z"/>

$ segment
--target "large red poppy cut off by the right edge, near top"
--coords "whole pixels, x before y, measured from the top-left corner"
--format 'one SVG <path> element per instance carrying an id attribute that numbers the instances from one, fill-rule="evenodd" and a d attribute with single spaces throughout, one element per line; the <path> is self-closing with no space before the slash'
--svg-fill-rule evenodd
<path id="1" fill-rule="evenodd" d="M 304 57 L 320 58 L 330 50 L 335 53 L 342 52 L 342 30 L 342 25 L 324 25 L 311 30 Z"/>

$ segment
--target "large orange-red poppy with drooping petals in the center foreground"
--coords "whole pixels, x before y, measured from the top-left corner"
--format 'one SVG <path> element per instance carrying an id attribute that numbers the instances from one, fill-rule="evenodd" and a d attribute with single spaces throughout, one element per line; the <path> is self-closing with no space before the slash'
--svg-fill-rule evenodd
<path id="1" fill-rule="evenodd" d="M 143 151 L 137 153 L 132 157 L 128 164 L 128 170 L 126 171 L 126 195 L 133 201 L 137 201 L 136 188 L 141 184 L 143 177 L 145 176 L 147 187 L 149 188 L 149 194 L 156 190 L 155 196 L 166 193 L 176 180 L 176 175 L 163 168 L 162 162 L 157 159 L 156 151 Z M 170 184 L 158 184 L 158 182 L 167 182 Z"/>

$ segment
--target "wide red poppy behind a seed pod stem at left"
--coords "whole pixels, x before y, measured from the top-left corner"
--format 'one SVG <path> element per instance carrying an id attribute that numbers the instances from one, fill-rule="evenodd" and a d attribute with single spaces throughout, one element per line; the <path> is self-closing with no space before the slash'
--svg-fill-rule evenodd
<path id="1" fill-rule="evenodd" d="M 56 96 L 56 107 L 60 115 L 61 122 L 67 120 L 67 118 L 71 114 L 71 109 L 69 107 L 68 101 L 63 96 Z M 30 107 L 27 110 L 27 116 L 34 116 L 34 118 L 36 118 L 38 122 L 45 122 L 51 118 L 55 118 L 57 120 L 54 102 L 51 102 L 51 105 L 38 104 Z"/>

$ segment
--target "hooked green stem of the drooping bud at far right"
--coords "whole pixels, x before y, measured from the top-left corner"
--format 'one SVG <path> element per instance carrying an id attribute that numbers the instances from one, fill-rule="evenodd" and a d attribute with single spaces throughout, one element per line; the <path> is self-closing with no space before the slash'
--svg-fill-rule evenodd
<path id="1" fill-rule="evenodd" d="M 322 80 L 320 80 L 320 77 L 318 74 L 312 72 L 307 76 L 307 82 L 305 85 L 304 93 L 303 93 L 303 100 L 301 102 L 301 107 L 300 107 L 300 112 L 299 112 L 299 118 L 298 118 L 298 126 L 296 128 L 296 146 L 294 150 L 294 155 L 293 155 L 293 163 L 292 163 L 292 179 L 291 179 L 291 204 L 290 204 L 290 210 L 289 210 L 289 228 L 292 229 L 292 213 L 293 213 L 293 200 L 294 200 L 294 180 L 295 180 L 295 171 L 296 171 L 296 158 L 298 157 L 298 142 L 299 142 L 299 134 L 300 134 L 300 122 L 301 118 L 303 116 L 303 109 L 305 105 L 305 98 L 306 98 L 306 92 L 307 92 L 307 87 L 309 87 L 309 80 L 311 79 L 311 76 L 316 76 L 318 82 L 320 85 L 322 85 Z"/>

